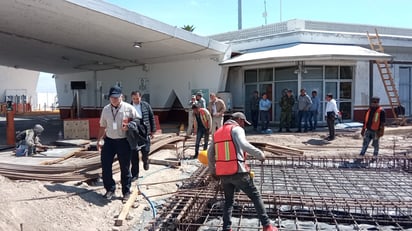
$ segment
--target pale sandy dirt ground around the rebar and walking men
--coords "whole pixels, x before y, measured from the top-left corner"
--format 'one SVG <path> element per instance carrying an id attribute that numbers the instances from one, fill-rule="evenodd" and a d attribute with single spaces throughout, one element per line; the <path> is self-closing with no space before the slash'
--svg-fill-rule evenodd
<path id="1" fill-rule="evenodd" d="M 412 127 L 387 128 L 381 139 L 380 155 L 403 155 L 412 150 Z M 358 154 L 362 145 L 360 129 L 338 131 L 337 139 L 326 142 L 326 130 L 308 133 L 275 133 L 270 135 L 251 134 L 249 140 L 268 141 L 278 145 L 300 148 L 305 155 Z M 193 142 L 186 155 L 193 154 Z M 373 148 L 367 155 L 372 155 Z M 176 158 L 173 150 L 161 150 L 151 158 Z M 197 160 L 183 160 L 180 168 L 151 165 L 143 171 L 140 184 L 160 183 L 142 186 L 155 207 L 177 190 L 179 180 L 190 177 L 201 164 Z M 119 174 L 115 177 L 119 182 Z M 163 183 L 163 182 L 170 183 Z M 136 184 L 136 183 L 135 183 Z M 118 184 L 117 198 L 107 201 L 102 197 L 104 189 L 101 182 L 92 185 L 85 182 L 40 182 L 10 180 L 0 176 L 0 230 L 144 230 L 152 218 L 149 203 L 142 195 L 138 196 L 135 208 L 131 209 L 129 219 L 120 227 L 114 225 L 115 217 L 122 209 L 121 191 Z M 135 185 L 136 186 L 136 185 Z M 167 194 L 166 196 L 156 196 Z"/>

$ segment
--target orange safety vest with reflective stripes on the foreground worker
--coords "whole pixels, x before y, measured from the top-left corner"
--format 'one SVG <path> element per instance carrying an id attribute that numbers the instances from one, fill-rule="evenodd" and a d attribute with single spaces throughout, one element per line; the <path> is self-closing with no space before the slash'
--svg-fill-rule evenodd
<path id="1" fill-rule="evenodd" d="M 226 124 L 219 128 L 214 136 L 215 143 L 215 158 L 216 158 L 216 175 L 228 176 L 238 172 L 238 158 L 236 146 L 233 143 L 232 129 L 238 125 Z M 244 158 L 246 160 L 246 155 Z M 248 166 L 245 164 L 246 169 Z"/>

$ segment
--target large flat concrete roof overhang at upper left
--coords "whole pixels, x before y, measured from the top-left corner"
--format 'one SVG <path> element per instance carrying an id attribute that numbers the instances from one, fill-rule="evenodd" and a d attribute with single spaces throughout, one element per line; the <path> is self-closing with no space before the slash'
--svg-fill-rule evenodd
<path id="1" fill-rule="evenodd" d="M 0 65 L 50 73 L 216 59 L 229 46 L 100 0 L 0 1 L 0 15 Z"/>

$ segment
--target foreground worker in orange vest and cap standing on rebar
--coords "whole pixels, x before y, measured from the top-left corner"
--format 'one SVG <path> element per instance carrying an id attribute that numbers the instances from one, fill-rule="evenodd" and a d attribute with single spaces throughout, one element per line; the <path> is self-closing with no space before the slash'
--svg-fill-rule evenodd
<path id="1" fill-rule="evenodd" d="M 214 178 L 220 177 L 225 194 L 223 208 L 223 230 L 231 230 L 231 217 L 234 203 L 235 189 L 242 190 L 253 202 L 258 218 L 263 225 L 263 231 L 275 231 L 277 228 L 270 224 L 261 195 L 253 183 L 250 169 L 246 164 L 246 153 L 265 160 L 265 154 L 251 145 L 245 136 L 245 124 L 251 125 L 246 120 L 245 114 L 236 112 L 232 119 L 225 122 L 213 135 L 213 140 L 208 149 L 208 165 Z"/>

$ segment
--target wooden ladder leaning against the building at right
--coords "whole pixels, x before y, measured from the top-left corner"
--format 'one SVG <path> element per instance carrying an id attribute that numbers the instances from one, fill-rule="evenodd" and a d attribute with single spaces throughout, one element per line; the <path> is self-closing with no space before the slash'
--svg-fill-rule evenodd
<path id="1" fill-rule="evenodd" d="M 369 34 L 369 32 L 366 32 L 366 34 L 368 36 L 371 49 L 383 53 L 384 49 L 382 47 L 382 41 L 379 37 L 378 31 L 375 29 L 374 35 Z M 399 100 L 398 90 L 396 89 L 395 81 L 393 80 L 392 71 L 388 64 L 388 61 L 375 60 L 375 63 L 378 66 L 378 71 L 381 76 L 383 86 L 385 87 L 386 95 L 388 96 L 389 104 L 391 106 L 395 121 L 399 122 L 402 125 L 405 123 L 406 118 L 396 113 L 397 108 L 401 105 L 401 103 Z"/>

